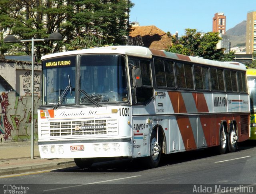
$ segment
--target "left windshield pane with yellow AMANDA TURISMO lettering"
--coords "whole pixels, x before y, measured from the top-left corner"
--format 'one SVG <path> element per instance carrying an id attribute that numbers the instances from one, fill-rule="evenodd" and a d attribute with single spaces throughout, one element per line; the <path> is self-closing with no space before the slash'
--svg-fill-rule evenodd
<path id="1" fill-rule="evenodd" d="M 42 105 L 74 104 L 76 56 L 42 61 Z"/>

